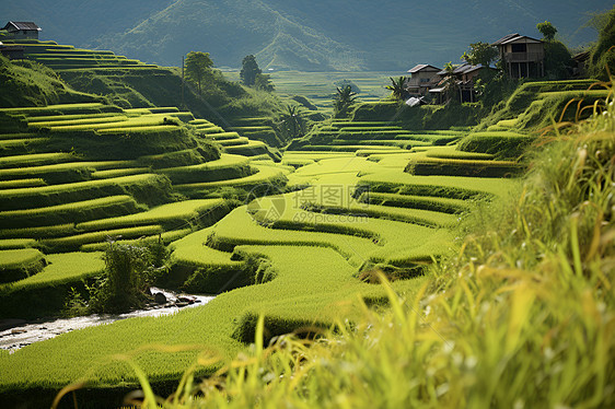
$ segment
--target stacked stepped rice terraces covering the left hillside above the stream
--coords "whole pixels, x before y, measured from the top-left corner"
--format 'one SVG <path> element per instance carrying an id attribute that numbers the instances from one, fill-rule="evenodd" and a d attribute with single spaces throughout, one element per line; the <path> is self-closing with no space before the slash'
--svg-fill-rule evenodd
<path id="1" fill-rule="evenodd" d="M 3 108 L 0 115 L 8 118 L 0 124 L 3 317 L 20 314 L 14 306 L 23 299 L 32 299 L 30 316 L 58 313 L 71 287 L 101 273 L 86 267 L 89 253 L 100 261 L 96 252 L 108 241 L 177 241 L 236 206 L 220 189 L 283 185 L 289 173 L 263 142 L 174 107 L 63 104 Z M 227 153 L 223 140 L 236 140 L 232 147 L 244 148 L 244 155 Z M 83 271 L 62 270 L 68 261 L 61 254 L 71 252 L 81 252 L 70 260 L 82 257 Z M 42 280 L 50 262 L 55 279 Z M 42 291 L 54 296 L 33 295 Z"/>

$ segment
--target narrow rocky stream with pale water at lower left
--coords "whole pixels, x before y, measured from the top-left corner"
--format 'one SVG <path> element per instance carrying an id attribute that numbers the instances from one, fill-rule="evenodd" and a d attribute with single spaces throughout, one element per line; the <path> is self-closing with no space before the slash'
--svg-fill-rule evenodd
<path id="1" fill-rule="evenodd" d="M 149 304 L 144 309 L 131 311 L 125 314 L 92 314 L 74 318 L 57 318 L 53 320 L 36 320 L 27 323 L 24 319 L 0 319 L 0 349 L 14 352 L 31 343 L 55 338 L 61 334 L 111 324 L 116 320 L 134 317 L 158 317 L 174 314 L 183 308 L 205 305 L 214 296 L 177 294 L 169 290 L 151 288 L 159 304 Z M 164 294 L 165 302 L 158 293 Z"/>

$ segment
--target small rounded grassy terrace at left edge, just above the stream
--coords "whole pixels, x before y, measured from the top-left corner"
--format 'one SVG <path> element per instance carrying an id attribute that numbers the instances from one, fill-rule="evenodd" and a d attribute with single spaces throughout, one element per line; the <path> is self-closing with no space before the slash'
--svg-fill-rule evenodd
<path id="1" fill-rule="evenodd" d="M 36 248 L 0 250 L 0 283 L 36 274 L 45 266 L 45 256 Z"/>

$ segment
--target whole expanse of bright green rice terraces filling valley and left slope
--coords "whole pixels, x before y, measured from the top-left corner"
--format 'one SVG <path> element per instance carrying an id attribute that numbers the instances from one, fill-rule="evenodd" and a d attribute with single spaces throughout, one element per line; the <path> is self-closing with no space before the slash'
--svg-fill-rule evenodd
<path id="1" fill-rule="evenodd" d="M 305 94 L 285 75 L 274 73 L 278 93 Z M 335 91 L 325 83 L 333 78 L 314 74 L 314 95 Z M 351 79 L 368 95 L 387 82 Z M 559 92 L 541 86 L 541 95 Z M 126 135 L 155 149 L 117 160 L 59 149 L 0 157 L 0 271 L 9 271 L 0 305 L 54 291 L 66 296 L 84 285 L 103 270 L 109 238 L 161 239 L 170 270 L 160 283 L 217 297 L 173 316 L 88 328 L 0 354 L 0 392 L 53 389 L 83 376 L 92 387 L 134 384 L 131 369 L 108 358 L 118 353 L 134 357 L 153 383 L 174 379 L 196 350 L 148 346 L 198 346 L 229 359 L 253 341 L 259 315 L 269 339 L 326 327 L 340 313 L 352 320 L 361 299 L 385 303 L 382 287 L 364 274 L 394 271 L 404 278 L 395 289 L 416 292 L 427 266 L 459 250 L 453 232 L 461 220 L 518 188 L 520 147 L 534 140 L 511 118 L 499 119 L 500 130 L 472 131 L 334 120 L 291 143 L 275 163 L 276 150 L 251 135 L 269 130 L 263 118 L 223 129 L 170 108 L 88 104 L 3 114 L 20 116 L 27 130 L 4 133 L 9 148 L 77 132 L 104 141 Z M 188 136 L 189 143 L 178 142 Z M 216 154 L 201 155 L 201 143 Z M 57 312 L 60 295 L 37 311 Z"/>

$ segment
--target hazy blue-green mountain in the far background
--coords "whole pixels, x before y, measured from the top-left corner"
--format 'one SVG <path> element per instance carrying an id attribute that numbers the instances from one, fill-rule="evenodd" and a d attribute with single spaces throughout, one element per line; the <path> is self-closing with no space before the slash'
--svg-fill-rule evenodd
<path id="1" fill-rule="evenodd" d="M 407 70 L 459 61 L 469 43 L 519 32 L 539 36 L 550 21 L 569 46 L 595 39 L 580 28 L 605 0 L 20 0 L 5 20 L 33 20 L 44 38 L 112 49 L 177 66 L 190 50 L 217 66 L 297 70 Z"/>

